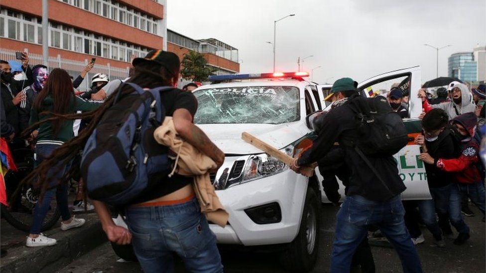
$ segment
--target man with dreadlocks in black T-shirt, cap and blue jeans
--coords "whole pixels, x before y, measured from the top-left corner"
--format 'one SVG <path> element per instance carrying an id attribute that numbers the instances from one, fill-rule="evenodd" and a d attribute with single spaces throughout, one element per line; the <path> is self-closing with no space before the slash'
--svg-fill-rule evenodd
<path id="1" fill-rule="evenodd" d="M 217 167 L 212 170 L 216 171 L 223 164 L 225 154 L 193 124 L 193 116 L 197 110 L 196 97 L 192 92 L 175 88 L 179 80 L 179 57 L 171 52 L 153 50 L 145 58 L 135 58 L 132 64 L 134 74 L 127 82 L 147 89 L 174 87 L 160 92 L 159 103 L 163 106 L 161 108 L 165 109 L 166 116 L 172 116 L 177 134 L 216 163 Z M 124 85 L 120 95 L 123 97 L 132 92 L 130 86 Z M 63 118 L 69 119 L 88 118 L 91 122 L 78 137 L 56 150 L 52 158 L 64 161 L 73 159 L 84 147 L 114 99 L 114 95 L 109 96 L 106 102 L 93 112 L 62 115 Z M 52 161 L 47 162 L 40 166 L 40 170 L 54 164 Z M 79 168 L 80 166 L 73 166 L 71 171 Z M 200 205 L 195 198 L 193 180 L 193 177 L 174 174 L 171 178 L 162 179 L 151 188 L 150 193 L 137 196 L 133 204 L 124 208 L 129 230 L 115 225 L 105 203 L 93 200 L 108 239 L 121 245 L 131 242 L 144 272 L 173 272 L 174 252 L 181 257 L 190 272 L 202 269 L 205 272 L 223 272 L 216 236 L 209 229 L 206 217 L 201 213 Z M 160 230 L 164 232 L 161 233 Z"/>

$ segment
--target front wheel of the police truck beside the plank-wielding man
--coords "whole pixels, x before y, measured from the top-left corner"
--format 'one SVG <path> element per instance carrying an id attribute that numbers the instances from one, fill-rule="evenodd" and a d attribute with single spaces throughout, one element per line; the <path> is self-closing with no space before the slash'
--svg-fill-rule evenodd
<path id="1" fill-rule="evenodd" d="M 307 272 L 314 268 L 319 252 L 319 208 L 316 192 L 307 187 L 299 233 L 280 256 L 286 270 Z"/>

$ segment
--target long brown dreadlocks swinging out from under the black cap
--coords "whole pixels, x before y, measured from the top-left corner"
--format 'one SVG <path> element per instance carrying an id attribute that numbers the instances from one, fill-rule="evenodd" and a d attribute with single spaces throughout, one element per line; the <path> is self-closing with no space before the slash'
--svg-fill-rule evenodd
<path id="1" fill-rule="evenodd" d="M 53 70 L 54 72 L 54 70 Z M 158 86 L 172 86 L 174 82 L 178 80 L 178 73 L 177 72 L 170 72 L 163 66 L 154 63 L 154 62 L 141 62 L 137 64 L 134 68 L 134 75 L 132 78 L 128 80 L 130 83 L 134 83 L 139 85 L 142 88 L 154 88 Z M 49 79 L 52 79 L 52 74 Z M 69 78 L 68 78 L 69 80 Z M 69 82 L 71 82 L 69 80 Z M 120 87 L 121 90 L 121 97 L 132 93 L 132 88 L 128 85 L 122 85 Z M 71 88 L 72 90 L 72 88 Z M 120 91 L 120 90 L 119 90 Z M 52 169 L 57 164 L 60 164 L 60 167 L 55 170 L 52 176 L 58 174 L 63 166 L 66 166 L 69 162 L 71 162 L 76 156 L 78 156 L 81 150 L 84 148 L 86 141 L 91 136 L 93 131 L 95 130 L 96 126 L 100 122 L 103 117 L 103 114 L 106 112 L 108 108 L 113 105 L 115 97 L 119 93 L 119 91 L 114 92 L 111 94 L 108 99 L 96 110 L 84 113 L 68 113 L 68 114 L 61 114 L 61 113 L 49 113 L 52 115 L 50 118 L 46 118 L 39 122 L 36 122 L 29 126 L 25 131 L 22 133 L 23 135 L 30 134 L 33 130 L 35 130 L 40 124 L 48 121 L 54 121 L 59 119 L 89 119 L 91 122 L 88 126 L 82 130 L 77 137 L 72 138 L 68 142 L 65 142 L 63 145 L 59 146 L 56 150 L 52 152 L 52 154 L 44 159 L 41 164 L 37 166 L 27 177 L 25 177 L 22 182 L 19 183 L 16 192 L 22 187 L 22 185 L 26 183 L 31 183 L 38 178 L 35 185 L 41 187 L 40 196 L 39 198 L 42 199 L 45 191 L 48 188 L 54 188 L 58 186 L 60 183 L 69 181 L 76 173 L 80 172 L 80 165 L 73 165 L 71 169 L 67 171 L 62 179 L 57 183 L 49 183 L 49 179 L 51 177 L 46 177 L 46 174 L 50 169 Z M 41 114 L 47 114 L 47 112 L 42 112 Z M 86 188 L 86 187 L 85 187 Z M 13 195 L 15 196 L 15 195 Z M 87 191 L 84 191 L 84 199 L 86 201 Z"/>

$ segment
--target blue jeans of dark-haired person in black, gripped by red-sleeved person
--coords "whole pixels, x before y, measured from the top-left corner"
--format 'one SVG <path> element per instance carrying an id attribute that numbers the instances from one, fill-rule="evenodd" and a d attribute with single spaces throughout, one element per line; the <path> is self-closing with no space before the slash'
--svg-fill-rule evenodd
<path id="1" fill-rule="evenodd" d="M 442 231 L 437 223 L 435 213 L 439 215 L 439 220 L 448 219 L 449 211 L 449 198 L 451 196 L 452 184 L 443 187 L 431 187 L 430 195 L 431 200 L 420 200 L 418 207 L 420 210 L 420 216 L 424 221 L 427 229 L 432 233 L 434 239 L 437 241 L 442 240 Z"/>

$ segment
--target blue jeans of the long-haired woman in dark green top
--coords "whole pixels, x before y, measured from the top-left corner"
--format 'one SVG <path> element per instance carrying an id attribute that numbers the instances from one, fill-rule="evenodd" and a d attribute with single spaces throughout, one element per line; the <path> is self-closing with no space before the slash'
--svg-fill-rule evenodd
<path id="1" fill-rule="evenodd" d="M 45 158 L 47 158 L 52 152 L 57 149 L 59 145 L 53 144 L 39 144 L 35 147 L 35 153 L 37 154 L 36 165 L 38 166 Z M 61 168 L 60 171 L 55 172 Z M 47 172 L 48 185 L 53 186 L 60 182 L 60 179 L 71 168 L 71 163 L 61 167 L 61 163 L 49 169 Z M 64 221 L 71 219 L 71 213 L 68 206 L 68 185 L 67 183 L 61 183 L 57 187 L 46 190 L 42 202 L 37 202 L 34 207 L 32 226 L 30 227 L 30 234 L 39 234 L 42 222 L 49 209 L 51 207 L 51 199 L 56 194 L 57 207 L 61 211 L 61 217 Z"/>

